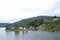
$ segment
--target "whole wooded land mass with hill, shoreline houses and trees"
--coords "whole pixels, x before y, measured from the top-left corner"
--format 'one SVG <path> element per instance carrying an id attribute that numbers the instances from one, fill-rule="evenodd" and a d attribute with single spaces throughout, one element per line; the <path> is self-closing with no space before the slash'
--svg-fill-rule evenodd
<path id="1" fill-rule="evenodd" d="M 21 22 L 21 21 L 20 21 Z M 26 31 L 26 30 L 46 30 L 60 31 L 60 17 L 43 16 L 25 19 L 22 23 L 15 22 L 6 26 L 6 30 Z"/>

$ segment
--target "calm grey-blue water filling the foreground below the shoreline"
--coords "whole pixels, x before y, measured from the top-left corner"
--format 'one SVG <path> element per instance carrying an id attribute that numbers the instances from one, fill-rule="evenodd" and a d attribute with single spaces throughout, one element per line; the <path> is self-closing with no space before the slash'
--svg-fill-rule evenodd
<path id="1" fill-rule="evenodd" d="M 60 32 L 48 31 L 5 31 L 0 28 L 0 40 L 60 40 Z"/>

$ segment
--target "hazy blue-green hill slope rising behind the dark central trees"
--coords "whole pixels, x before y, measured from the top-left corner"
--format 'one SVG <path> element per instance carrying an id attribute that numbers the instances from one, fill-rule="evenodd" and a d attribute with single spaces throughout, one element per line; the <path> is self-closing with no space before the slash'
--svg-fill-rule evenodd
<path id="1" fill-rule="evenodd" d="M 23 19 L 21 21 L 18 21 L 18 22 L 13 23 L 13 25 L 16 24 L 16 23 L 18 23 L 18 24 L 20 24 L 20 26 L 26 26 L 26 24 L 29 23 L 29 22 L 31 22 L 31 21 L 41 20 L 41 19 L 42 20 L 45 20 L 45 19 L 49 19 L 49 18 L 51 19 L 52 16 L 37 16 L 37 17 Z"/>

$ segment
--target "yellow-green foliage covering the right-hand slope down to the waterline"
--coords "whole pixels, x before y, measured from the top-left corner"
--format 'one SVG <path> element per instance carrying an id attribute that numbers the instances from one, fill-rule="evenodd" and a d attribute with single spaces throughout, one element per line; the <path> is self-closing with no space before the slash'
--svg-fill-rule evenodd
<path id="1" fill-rule="evenodd" d="M 44 30 L 56 30 L 60 31 L 60 20 L 47 20 L 45 24 L 42 25 Z"/>

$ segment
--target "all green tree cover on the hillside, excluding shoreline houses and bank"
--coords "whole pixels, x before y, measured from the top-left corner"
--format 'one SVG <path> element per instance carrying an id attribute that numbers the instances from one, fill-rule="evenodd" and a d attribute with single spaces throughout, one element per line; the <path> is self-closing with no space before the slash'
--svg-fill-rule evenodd
<path id="1" fill-rule="evenodd" d="M 53 20 L 57 18 L 58 20 Z M 42 28 L 45 30 L 60 30 L 60 17 L 52 17 L 52 16 L 38 16 L 28 19 L 23 19 L 21 21 L 15 22 L 11 25 L 7 25 L 7 29 L 11 29 L 15 27 L 15 29 L 19 29 L 19 27 L 30 27 L 33 26 L 34 28 L 42 25 Z"/>

